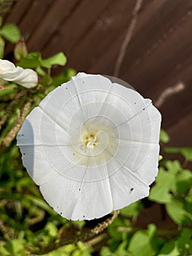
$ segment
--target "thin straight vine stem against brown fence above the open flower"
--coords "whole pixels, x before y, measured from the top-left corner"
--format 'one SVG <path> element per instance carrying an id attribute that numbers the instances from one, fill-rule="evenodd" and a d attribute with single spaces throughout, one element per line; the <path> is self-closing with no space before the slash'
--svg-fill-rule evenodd
<path id="1" fill-rule="evenodd" d="M 136 1 L 134 10 L 132 12 L 132 19 L 131 19 L 131 22 L 128 26 L 128 30 L 126 32 L 126 37 L 123 40 L 123 44 L 121 45 L 120 52 L 118 54 L 118 59 L 117 59 L 116 64 L 115 64 L 115 70 L 114 70 L 114 73 L 113 73 L 113 75 L 115 77 L 118 77 L 118 75 L 119 75 L 120 67 L 122 65 L 124 56 L 126 54 L 126 49 L 127 49 L 128 43 L 131 41 L 131 38 L 134 34 L 134 28 L 135 28 L 136 23 L 137 23 L 139 10 L 141 10 L 141 7 L 142 7 L 142 1 L 143 0 L 137 0 Z"/>

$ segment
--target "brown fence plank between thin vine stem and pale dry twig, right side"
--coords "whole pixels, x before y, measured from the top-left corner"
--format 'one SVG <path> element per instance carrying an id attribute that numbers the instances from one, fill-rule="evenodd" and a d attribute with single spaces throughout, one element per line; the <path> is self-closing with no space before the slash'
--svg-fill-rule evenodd
<path id="1" fill-rule="evenodd" d="M 166 73 L 171 72 L 176 64 L 191 55 L 191 27 L 191 15 L 187 15 L 182 22 L 180 20 L 180 24 L 177 23 L 177 26 L 172 29 L 169 39 L 158 42 L 153 50 L 150 49 L 145 56 L 140 57 L 137 64 L 133 63 L 127 72 L 124 71 L 123 78 L 131 79 L 136 86 L 143 84 L 143 92 L 158 83 Z"/>

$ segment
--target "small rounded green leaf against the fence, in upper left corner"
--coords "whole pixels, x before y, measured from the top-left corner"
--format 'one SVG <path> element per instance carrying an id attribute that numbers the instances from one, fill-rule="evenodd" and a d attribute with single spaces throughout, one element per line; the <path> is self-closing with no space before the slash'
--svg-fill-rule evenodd
<path id="1" fill-rule="evenodd" d="M 18 42 L 20 39 L 20 31 L 18 27 L 13 24 L 6 24 L 0 29 L 0 35 L 7 39 L 9 42 Z"/>

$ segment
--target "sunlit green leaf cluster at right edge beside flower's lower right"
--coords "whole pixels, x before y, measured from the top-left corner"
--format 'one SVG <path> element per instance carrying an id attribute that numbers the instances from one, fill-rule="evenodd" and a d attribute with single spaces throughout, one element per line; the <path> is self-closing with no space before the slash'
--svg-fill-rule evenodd
<path id="1" fill-rule="evenodd" d="M 149 199 L 164 203 L 167 214 L 177 225 L 191 225 L 192 206 L 188 202 L 191 200 L 191 194 L 189 194 L 191 185 L 191 171 L 183 169 L 178 161 L 168 160 L 164 167 L 159 169 L 156 184 L 150 191 Z"/>

